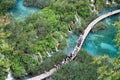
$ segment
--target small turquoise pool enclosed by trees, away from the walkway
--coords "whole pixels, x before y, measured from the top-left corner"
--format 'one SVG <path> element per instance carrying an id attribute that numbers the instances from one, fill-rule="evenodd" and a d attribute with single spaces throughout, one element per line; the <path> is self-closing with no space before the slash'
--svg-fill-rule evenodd
<path id="1" fill-rule="evenodd" d="M 24 0 L 17 0 L 13 8 L 8 12 L 12 13 L 15 18 L 25 18 L 29 14 L 39 11 L 39 8 L 36 7 L 26 7 L 23 5 Z"/>

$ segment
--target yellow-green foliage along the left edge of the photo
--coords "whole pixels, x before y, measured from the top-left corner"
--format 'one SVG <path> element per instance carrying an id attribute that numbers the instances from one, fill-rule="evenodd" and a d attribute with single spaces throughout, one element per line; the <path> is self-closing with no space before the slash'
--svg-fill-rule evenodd
<path id="1" fill-rule="evenodd" d="M 0 27 L 0 80 L 4 80 L 8 74 L 8 69 L 10 67 L 10 60 L 5 58 L 4 54 L 12 50 L 8 45 L 6 38 L 9 36 L 8 33 L 4 31 L 4 26 Z"/>

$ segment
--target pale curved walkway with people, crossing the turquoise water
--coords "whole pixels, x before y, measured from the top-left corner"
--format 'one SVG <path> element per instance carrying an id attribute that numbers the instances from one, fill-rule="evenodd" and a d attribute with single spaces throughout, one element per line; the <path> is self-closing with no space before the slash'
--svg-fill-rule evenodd
<path id="1" fill-rule="evenodd" d="M 72 52 L 72 57 L 71 57 L 71 60 L 73 60 L 77 53 L 79 52 L 79 50 L 81 49 L 82 45 L 83 45 L 83 42 L 85 41 L 87 35 L 89 34 L 90 30 L 93 28 L 93 26 L 98 23 L 99 21 L 109 17 L 109 16 L 112 16 L 112 15 L 115 15 L 115 14 L 118 14 L 120 13 L 120 10 L 115 10 L 115 11 L 112 11 L 112 12 L 108 12 L 98 18 L 96 18 L 95 20 L 93 20 L 88 26 L 87 28 L 84 30 L 84 33 L 82 35 L 79 36 L 79 39 L 78 39 L 78 43 L 77 45 L 75 46 L 73 52 Z M 57 68 L 52 68 L 50 71 L 48 72 L 45 72 L 41 75 L 38 75 L 36 77 L 33 77 L 33 78 L 30 78 L 28 80 L 41 80 L 41 79 L 44 79 L 46 77 L 49 77 L 54 71 L 56 71 Z"/>

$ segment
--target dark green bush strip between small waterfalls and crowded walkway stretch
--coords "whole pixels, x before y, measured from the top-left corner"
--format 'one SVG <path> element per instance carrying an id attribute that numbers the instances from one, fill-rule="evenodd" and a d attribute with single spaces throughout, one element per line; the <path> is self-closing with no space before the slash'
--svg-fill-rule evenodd
<path id="1" fill-rule="evenodd" d="M 60 64 L 67 55 L 63 52 L 56 52 L 53 56 L 47 58 L 44 62 L 38 67 L 37 73 L 41 74 L 44 71 L 47 71 L 54 67 L 55 64 Z"/>

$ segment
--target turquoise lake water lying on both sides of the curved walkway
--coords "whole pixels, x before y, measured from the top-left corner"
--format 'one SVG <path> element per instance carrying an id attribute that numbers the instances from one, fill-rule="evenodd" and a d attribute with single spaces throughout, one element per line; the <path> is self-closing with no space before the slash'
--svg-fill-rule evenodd
<path id="1" fill-rule="evenodd" d="M 99 15 L 105 14 L 111 10 L 114 9 L 106 9 L 100 12 Z M 113 23 L 117 20 L 117 18 L 118 15 L 114 15 L 104 19 L 102 22 L 104 22 L 107 25 L 107 28 L 96 33 L 90 33 L 87 36 L 82 48 L 88 51 L 93 56 L 102 56 L 104 54 L 107 54 L 110 57 L 118 56 L 118 49 L 115 46 L 116 43 L 114 41 L 116 27 L 113 26 Z M 73 47 L 75 47 L 77 43 L 77 40 L 75 39 L 78 39 L 78 36 L 76 36 L 75 34 L 72 34 L 71 36 L 72 37 L 69 37 L 67 40 L 68 45 L 70 45 L 66 48 L 66 50 L 68 50 L 66 51 L 67 53 L 72 52 L 72 50 L 74 49 Z"/>

